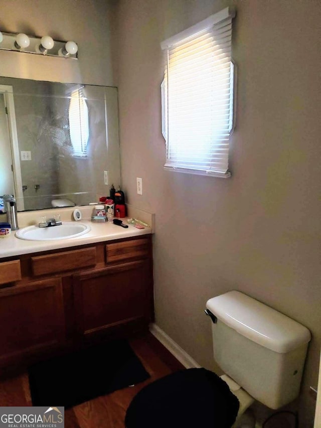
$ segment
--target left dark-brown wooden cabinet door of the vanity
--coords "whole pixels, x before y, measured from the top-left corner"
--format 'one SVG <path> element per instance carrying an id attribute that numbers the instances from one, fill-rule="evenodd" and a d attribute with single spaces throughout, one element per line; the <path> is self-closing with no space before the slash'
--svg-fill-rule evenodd
<path id="1" fill-rule="evenodd" d="M 63 339 L 60 278 L 0 290 L 0 365 L 52 349 Z"/>

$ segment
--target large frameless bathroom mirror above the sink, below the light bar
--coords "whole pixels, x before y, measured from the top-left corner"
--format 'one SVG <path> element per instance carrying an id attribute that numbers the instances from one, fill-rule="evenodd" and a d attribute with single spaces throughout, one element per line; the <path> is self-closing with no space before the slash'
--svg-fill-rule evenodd
<path id="1" fill-rule="evenodd" d="M 88 205 L 120 185 L 117 88 L 0 77 L 0 197 Z"/>

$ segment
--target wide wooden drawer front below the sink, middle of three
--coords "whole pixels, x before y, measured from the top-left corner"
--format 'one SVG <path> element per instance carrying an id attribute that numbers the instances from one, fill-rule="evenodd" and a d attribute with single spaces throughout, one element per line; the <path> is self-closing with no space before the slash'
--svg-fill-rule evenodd
<path id="1" fill-rule="evenodd" d="M 58 273 L 96 264 L 96 247 L 65 251 L 57 254 L 40 255 L 31 258 L 35 276 Z"/>

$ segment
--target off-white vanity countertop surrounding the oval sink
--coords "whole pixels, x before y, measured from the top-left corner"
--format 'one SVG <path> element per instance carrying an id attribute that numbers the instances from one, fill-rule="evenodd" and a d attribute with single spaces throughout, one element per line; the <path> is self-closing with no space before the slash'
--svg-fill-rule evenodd
<path id="1" fill-rule="evenodd" d="M 127 218 L 122 219 L 124 224 Z M 58 248 L 75 247 L 78 245 L 92 244 L 95 242 L 109 241 L 112 239 L 130 238 L 134 236 L 147 235 L 151 228 L 137 229 L 128 224 L 128 228 L 117 226 L 112 222 L 92 223 L 88 220 L 81 220 L 81 223 L 89 224 L 91 230 L 81 236 L 68 239 L 59 239 L 54 241 L 26 241 L 17 238 L 16 231 L 12 231 L 6 238 L 0 238 L 0 259 L 3 257 L 12 257 L 20 254 L 29 254 L 40 251 L 54 250 Z M 59 226 L 56 226 L 59 227 Z"/>

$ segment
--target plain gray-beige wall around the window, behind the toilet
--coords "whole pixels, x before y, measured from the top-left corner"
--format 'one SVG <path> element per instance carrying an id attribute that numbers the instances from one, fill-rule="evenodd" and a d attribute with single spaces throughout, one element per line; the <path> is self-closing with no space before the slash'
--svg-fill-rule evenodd
<path id="1" fill-rule="evenodd" d="M 159 44 L 231 4 L 238 65 L 233 177 L 165 171 Z M 307 326 L 313 339 L 300 416 L 309 428 L 321 339 L 321 5 L 121 0 L 116 18 L 122 182 L 130 204 L 156 214 L 156 324 L 213 369 L 211 325 L 203 313 L 213 296 L 240 290 Z"/>

